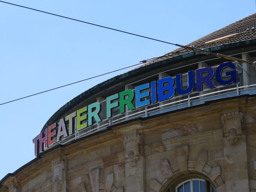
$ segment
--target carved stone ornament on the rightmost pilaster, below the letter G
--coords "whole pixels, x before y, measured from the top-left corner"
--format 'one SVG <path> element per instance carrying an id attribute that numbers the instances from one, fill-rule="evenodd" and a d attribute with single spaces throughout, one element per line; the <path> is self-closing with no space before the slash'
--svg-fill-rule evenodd
<path id="1" fill-rule="evenodd" d="M 224 137 L 227 137 L 231 144 L 237 143 L 242 134 L 243 114 L 239 111 L 223 113 L 221 121 Z"/>

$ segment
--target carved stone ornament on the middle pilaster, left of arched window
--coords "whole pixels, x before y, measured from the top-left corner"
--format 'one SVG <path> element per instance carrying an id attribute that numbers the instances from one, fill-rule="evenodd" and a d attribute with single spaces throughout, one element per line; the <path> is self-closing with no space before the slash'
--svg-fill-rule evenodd
<path id="1" fill-rule="evenodd" d="M 139 156 L 142 154 L 140 144 L 141 135 L 132 134 L 124 136 L 125 159 L 128 160 L 131 166 L 136 165 L 135 162 L 139 160 Z"/>

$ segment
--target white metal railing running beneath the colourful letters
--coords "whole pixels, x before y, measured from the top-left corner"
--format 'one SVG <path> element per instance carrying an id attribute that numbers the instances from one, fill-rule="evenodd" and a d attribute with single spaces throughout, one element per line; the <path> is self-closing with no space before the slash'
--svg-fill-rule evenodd
<path id="1" fill-rule="evenodd" d="M 218 66 L 215 66 L 212 68 L 216 68 L 216 67 Z M 194 90 L 196 90 L 196 88 Z M 122 114 L 118 113 L 116 115 L 113 115 L 111 118 L 104 119 L 99 123 L 95 123 L 94 125 L 88 126 L 79 131 L 75 130 L 75 133 L 73 135 L 70 135 L 67 138 L 61 140 L 58 144 L 69 143 L 78 138 L 104 130 L 110 125 L 115 125 L 120 122 L 124 122 L 137 117 L 152 116 L 152 115 L 156 115 L 156 114 L 160 114 L 168 111 L 173 111 L 173 110 L 182 109 L 182 108 L 186 108 L 193 105 L 202 104 L 205 101 L 210 101 L 210 100 L 220 99 L 220 98 L 227 98 L 227 97 L 243 95 L 243 94 L 256 94 L 256 84 L 243 86 L 243 77 L 242 77 L 242 74 L 240 73 L 237 84 L 231 84 L 229 86 L 218 86 L 213 89 L 204 89 L 200 92 L 193 91 L 189 95 L 177 95 L 177 96 L 174 95 L 174 97 L 167 99 L 165 101 L 152 103 L 142 108 L 126 111 L 125 113 L 122 113 Z M 151 97 L 148 97 L 146 99 L 151 99 Z M 106 100 L 103 100 L 100 103 L 103 103 L 103 102 L 106 102 Z M 55 145 L 57 145 L 57 143 Z"/>

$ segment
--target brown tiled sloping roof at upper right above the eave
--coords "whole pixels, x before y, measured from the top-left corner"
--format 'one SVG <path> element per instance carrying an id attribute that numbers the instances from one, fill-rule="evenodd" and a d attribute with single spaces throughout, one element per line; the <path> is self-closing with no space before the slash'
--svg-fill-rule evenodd
<path id="1" fill-rule="evenodd" d="M 202 45 L 205 44 L 205 42 L 214 40 L 214 39 L 218 39 L 227 35 L 231 35 L 231 34 L 235 34 L 235 33 L 241 33 L 246 31 L 248 28 L 252 28 L 252 27 L 256 27 L 256 13 L 245 17 L 237 22 L 234 22 L 226 27 L 223 27 L 217 31 L 214 31 L 212 33 L 210 33 L 209 35 L 206 35 L 200 39 L 197 39 L 189 44 L 187 44 L 186 46 L 198 46 L 198 45 Z M 208 47 L 215 47 L 218 45 L 223 45 L 223 44 L 228 44 L 228 43 L 232 43 L 232 42 L 237 42 L 237 41 L 243 41 L 243 40 L 248 40 L 248 39 L 255 39 L 256 38 L 256 32 L 254 33 L 244 33 L 241 34 L 237 37 L 231 37 L 229 39 L 226 40 L 222 40 L 220 42 L 216 42 L 216 43 L 212 43 L 210 45 L 202 45 L 200 46 L 200 48 L 208 48 Z M 173 52 L 175 51 L 180 51 L 181 54 L 188 52 L 187 50 L 185 50 L 184 48 L 178 48 L 174 51 L 171 51 L 167 54 L 165 54 L 164 57 L 161 58 L 157 58 L 151 61 L 148 61 L 147 63 L 139 66 L 139 67 L 143 67 L 145 65 L 150 65 L 151 63 L 155 63 L 157 61 L 161 61 L 167 58 L 171 58 L 174 57 L 175 55 L 172 55 Z M 137 68 L 139 68 L 137 67 Z M 136 69 L 136 68 L 135 68 Z"/>

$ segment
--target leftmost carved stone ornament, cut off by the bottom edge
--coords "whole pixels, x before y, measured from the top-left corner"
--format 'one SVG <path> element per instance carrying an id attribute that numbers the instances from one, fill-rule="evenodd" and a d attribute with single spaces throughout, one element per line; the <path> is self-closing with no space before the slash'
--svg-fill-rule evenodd
<path id="1" fill-rule="evenodd" d="M 58 160 L 52 163 L 52 182 L 54 183 L 54 191 L 61 191 L 62 189 L 65 191 L 66 186 L 63 186 L 65 180 L 66 167 L 64 161 Z"/>

